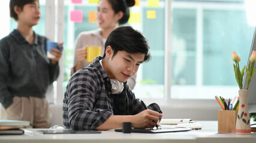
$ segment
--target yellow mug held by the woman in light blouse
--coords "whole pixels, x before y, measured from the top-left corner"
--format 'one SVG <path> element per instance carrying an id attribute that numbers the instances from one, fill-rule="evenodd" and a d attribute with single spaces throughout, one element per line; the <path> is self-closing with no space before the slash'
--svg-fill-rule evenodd
<path id="1" fill-rule="evenodd" d="M 89 63 L 92 63 L 94 61 L 94 58 L 101 55 L 101 47 L 100 46 L 88 46 L 87 47 L 87 56 L 86 60 Z"/>

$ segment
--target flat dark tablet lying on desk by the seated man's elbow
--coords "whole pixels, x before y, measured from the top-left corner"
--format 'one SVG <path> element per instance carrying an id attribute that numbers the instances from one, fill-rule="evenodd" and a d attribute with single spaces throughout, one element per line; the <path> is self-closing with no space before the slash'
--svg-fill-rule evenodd
<path id="1" fill-rule="evenodd" d="M 37 130 L 38 133 L 43 134 L 62 134 L 62 133 L 101 133 L 98 130 L 71 130 L 71 129 L 57 129 L 57 130 Z"/>

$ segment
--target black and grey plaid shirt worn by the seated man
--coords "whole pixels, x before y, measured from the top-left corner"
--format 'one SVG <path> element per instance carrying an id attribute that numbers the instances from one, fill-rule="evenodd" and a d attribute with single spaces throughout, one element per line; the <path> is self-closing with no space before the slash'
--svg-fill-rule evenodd
<path id="1" fill-rule="evenodd" d="M 162 113 L 158 104 L 146 107 L 143 101 L 135 98 L 126 82 L 121 94 L 112 94 L 112 85 L 100 64 L 101 59 L 95 58 L 68 82 L 62 107 L 66 128 L 95 129 L 112 115 L 134 115 L 146 108 Z"/>

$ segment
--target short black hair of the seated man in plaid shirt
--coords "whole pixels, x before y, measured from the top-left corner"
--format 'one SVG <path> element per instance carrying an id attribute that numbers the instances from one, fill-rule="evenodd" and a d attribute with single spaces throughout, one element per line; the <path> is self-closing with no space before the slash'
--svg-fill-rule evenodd
<path id="1" fill-rule="evenodd" d="M 118 27 L 110 33 L 105 43 L 103 58 L 106 57 L 107 46 L 112 47 L 113 57 L 118 51 L 125 51 L 131 54 L 145 54 L 143 61 L 149 61 L 150 59 L 149 42 L 141 32 L 132 29 L 131 26 Z"/>

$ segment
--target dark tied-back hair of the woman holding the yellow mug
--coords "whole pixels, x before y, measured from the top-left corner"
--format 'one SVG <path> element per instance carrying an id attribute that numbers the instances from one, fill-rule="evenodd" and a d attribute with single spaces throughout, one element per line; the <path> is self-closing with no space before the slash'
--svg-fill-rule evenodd
<path id="1" fill-rule="evenodd" d="M 129 7 L 134 6 L 135 0 L 108 0 L 115 14 L 119 11 L 124 13 L 123 17 L 118 21 L 119 24 L 125 24 L 129 20 Z"/>

